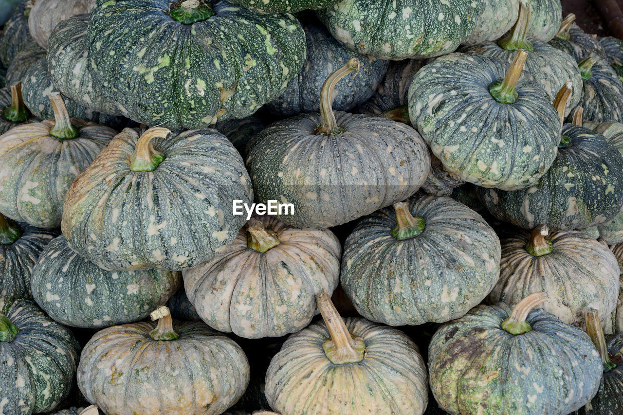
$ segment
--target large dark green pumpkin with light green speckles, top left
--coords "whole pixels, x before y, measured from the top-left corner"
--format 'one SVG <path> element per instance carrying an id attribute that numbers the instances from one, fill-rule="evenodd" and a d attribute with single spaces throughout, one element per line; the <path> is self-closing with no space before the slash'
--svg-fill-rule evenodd
<path id="1" fill-rule="evenodd" d="M 305 62 L 305 33 L 292 15 L 220 0 L 98 2 L 87 47 L 105 97 L 136 122 L 168 128 L 248 117 Z"/>

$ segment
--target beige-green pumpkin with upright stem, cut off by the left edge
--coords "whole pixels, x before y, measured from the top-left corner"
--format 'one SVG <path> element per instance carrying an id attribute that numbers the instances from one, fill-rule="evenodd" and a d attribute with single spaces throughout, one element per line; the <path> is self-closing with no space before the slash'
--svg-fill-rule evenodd
<path id="1" fill-rule="evenodd" d="M 32 226 L 60 225 L 65 191 L 117 131 L 70 118 L 50 93 L 54 120 L 18 125 L 0 136 L 0 212 Z"/>

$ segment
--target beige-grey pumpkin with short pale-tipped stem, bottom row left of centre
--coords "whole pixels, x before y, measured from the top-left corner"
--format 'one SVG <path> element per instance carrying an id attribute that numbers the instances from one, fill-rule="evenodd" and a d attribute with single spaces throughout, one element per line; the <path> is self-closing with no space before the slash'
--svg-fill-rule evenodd
<path id="1" fill-rule="evenodd" d="M 233 340 L 201 322 L 104 328 L 80 356 L 78 386 L 106 414 L 221 414 L 249 383 L 249 362 Z"/>

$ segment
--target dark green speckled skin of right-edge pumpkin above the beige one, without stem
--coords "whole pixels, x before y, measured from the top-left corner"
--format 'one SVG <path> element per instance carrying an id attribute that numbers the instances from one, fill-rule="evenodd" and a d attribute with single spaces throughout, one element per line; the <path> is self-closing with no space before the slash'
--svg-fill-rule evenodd
<path id="1" fill-rule="evenodd" d="M 623 157 L 604 136 L 566 124 L 571 144 L 558 149 L 547 173 L 517 191 L 479 189 L 498 219 L 523 229 L 546 225 L 551 231 L 583 229 L 610 221 L 623 204 Z"/>

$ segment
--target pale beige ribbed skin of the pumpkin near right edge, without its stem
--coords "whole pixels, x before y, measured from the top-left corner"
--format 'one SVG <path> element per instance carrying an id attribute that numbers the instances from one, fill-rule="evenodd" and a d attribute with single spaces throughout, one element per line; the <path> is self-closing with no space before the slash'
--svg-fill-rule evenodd
<path id="1" fill-rule="evenodd" d="M 488 303 L 513 305 L 531 293 L 546 292 L 543 308 L 576 327 L 584 327 L 584 313 L 591 308 L 603 318 L 616 308 L 619 265 L 607 246 L 583 232 L 554 232 L 546 238 L 553 251 L 535 257 L 526 250 L 530 233 L 502 239 L 500 280 Z"/>

